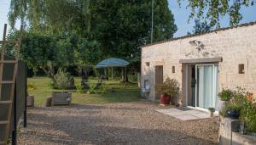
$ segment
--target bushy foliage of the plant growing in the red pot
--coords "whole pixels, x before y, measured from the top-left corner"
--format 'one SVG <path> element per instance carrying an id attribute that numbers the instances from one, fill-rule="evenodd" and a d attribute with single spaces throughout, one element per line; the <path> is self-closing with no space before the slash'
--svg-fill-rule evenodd
<path id="1" fill-rule="evenodd" d="M 168 77 L 164 83 L 156 84 L 156 90 L 163 95 L 170 95 L 171 97 L 175 97 L 179 93 L 178 81 Z"/>

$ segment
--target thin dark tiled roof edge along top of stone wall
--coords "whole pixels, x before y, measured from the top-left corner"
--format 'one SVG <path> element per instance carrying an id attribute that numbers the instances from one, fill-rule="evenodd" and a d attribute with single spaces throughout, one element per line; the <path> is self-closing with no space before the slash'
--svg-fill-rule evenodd
<path id="1" fill-rule="evenodd" d="M 230 30 L 230 29 L 233 29 L 233 28 L 245 27 L 245 26 L 250 26 L 250 25 L 256 25 L 256 21 L 248 22 L 248 23 L 244 23 L 244 24 L 236 25 L 236 26 L 224 27 L 224 28 L 213 30 L 213 31 L 207 31 L 207 32 L 201 33 L 201 34 L 192 34 L 192 35 L 187 35 L 187 36 L 179 36 L 179 37 L 175 37 L 175 38 L 169 38 L 169 39 L 166 39 L 164 41 L 154 42 L 152 44 L 143 45 L 143 46 L 141 46 L 141 48 L 142 47 L 149 47 L 149 46 L 153 46 L 153 45 L 161 44 L 161 43 L 165 43 L 165 42 L 172 42 L 172 41 L 185 39 L 185 38 L 189 38 L 189 37 L 203 36 L 203 35 L 210 34 L 210 33 L 213 33 L 213 32 L 218 32 L 218 31 L 227 31 L 227 30 Z"/>

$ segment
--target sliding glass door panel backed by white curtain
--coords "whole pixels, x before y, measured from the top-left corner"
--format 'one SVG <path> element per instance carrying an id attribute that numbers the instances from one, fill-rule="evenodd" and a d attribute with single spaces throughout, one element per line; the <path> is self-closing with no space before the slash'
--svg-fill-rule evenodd
<path id="1" fill-rule="evenodd" d="M 218 108 L 218 65 L 196 65 L 196 107 Z"/>

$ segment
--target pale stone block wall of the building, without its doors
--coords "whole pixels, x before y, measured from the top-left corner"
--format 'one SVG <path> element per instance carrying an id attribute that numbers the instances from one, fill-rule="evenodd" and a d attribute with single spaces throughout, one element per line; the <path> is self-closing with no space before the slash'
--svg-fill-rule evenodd
<path id="1" fill-rule="evenodd" d="M 190 41 L 202 42 L 203 50 L 198 51 Z M 154 66 L 163 65 L 166 77 L 177 79 L 182 88 L 183 65 L 180 59 L 222 57 L 218 64 L 218 86 L 235 88 L 241 86 L 256 93 L 256 25 L 247 25 L 224 31 L 213 31 L 205 35 L 190 36 L 142 47 L 142 77 L 150 84 L 147 97 L 154 100 Z M 146 64 L 149 62 L 149 65 Z M 238 73 L 238 65 L 244 64 L 245 73 Z M 175 66 L 175 73 L 172 73 Z M 181 95 L 184 98 L 184 95 Z"/>

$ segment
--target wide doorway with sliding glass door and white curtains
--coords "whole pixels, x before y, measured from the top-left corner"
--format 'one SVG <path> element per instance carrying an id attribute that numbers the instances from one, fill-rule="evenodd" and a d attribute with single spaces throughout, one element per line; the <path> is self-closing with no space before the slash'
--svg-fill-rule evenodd
<path id="1" fill-rule="evenodd" d="M 218 109 L 218 64 L 188 64 L 187 105 L 198 109 Z"/>

